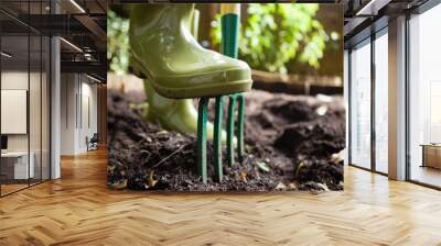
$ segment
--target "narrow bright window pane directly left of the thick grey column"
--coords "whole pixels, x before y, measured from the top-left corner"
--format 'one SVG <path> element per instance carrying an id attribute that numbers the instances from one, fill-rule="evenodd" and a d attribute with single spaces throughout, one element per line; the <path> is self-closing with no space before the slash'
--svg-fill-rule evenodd
<path id="1" fill-rule="evenodd" d="M 388 171 L 388 38 L 375 40 L 375 168 Z"/>

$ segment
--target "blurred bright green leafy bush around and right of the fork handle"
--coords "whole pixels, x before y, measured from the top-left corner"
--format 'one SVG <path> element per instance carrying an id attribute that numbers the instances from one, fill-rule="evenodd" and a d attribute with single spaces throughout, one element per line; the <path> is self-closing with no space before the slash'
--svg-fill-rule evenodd
<path id="1" fill-rule="evenodd" d="M 329 40 L 314 19 L 319 4 L 251 3 L 240 29 L 239 54 L 252 68 L 287 74 L 286 64 L 298 58 L 318 68 Z M 220 15 L 212 30 L 220 42 Z"/>

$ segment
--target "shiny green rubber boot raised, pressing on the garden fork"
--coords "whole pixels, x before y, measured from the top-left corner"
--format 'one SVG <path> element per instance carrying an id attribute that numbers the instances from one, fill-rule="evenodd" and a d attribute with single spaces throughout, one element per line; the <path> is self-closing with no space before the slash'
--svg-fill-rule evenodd
<path id="1" fill-rule="evenodd" d="M 133 71 L 165 98 L 203 98 L 251 89 L 249 66 L 203 48 L 190 31 L 194 4 L 137 4 L 130 10 Z"/>

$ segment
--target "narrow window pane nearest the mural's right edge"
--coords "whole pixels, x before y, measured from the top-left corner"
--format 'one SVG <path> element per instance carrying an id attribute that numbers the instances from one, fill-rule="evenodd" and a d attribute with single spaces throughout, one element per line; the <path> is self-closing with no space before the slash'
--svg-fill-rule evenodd
<path id="1" fill-rule="evenodd" d="M 370 44 L 351 53 L 351 160 L 370 168 Z"/>

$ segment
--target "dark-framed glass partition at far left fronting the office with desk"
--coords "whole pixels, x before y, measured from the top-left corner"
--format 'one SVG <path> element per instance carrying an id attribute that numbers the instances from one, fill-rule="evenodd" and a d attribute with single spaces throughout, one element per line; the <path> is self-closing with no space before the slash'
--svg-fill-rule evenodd
<path id="1" fill-rule="evenodd" d="M 0 1 L 0 8 L 22 21 L 0 13 L 0 185 L 6 194 L 50 177 L 50 40 L 23 24 L 42 21 L 50 1 Z"/>

